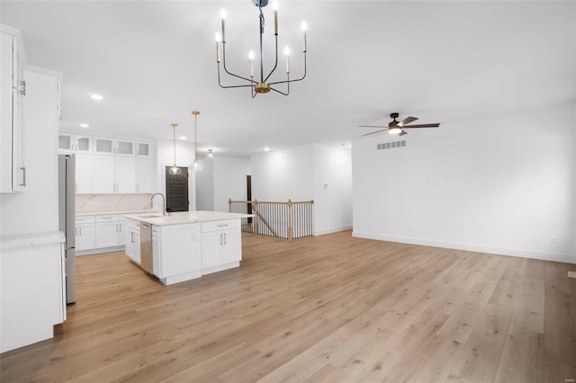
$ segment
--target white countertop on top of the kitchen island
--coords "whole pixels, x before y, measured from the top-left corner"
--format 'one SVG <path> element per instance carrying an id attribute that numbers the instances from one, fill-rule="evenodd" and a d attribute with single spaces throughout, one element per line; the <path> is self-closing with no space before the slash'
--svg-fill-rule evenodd
<path id="1" fill-rule="evenodd" d="M 153 214 L 154 211 L 147 211 L 142 214 L 146 216 L 147 214 Z M 161 213 L 159 213 L 161 214 Z M 226 219 L 240 219 L 240 218 L 250 218 L 255 217 L 254 214 L 241 214 L 241 213 L 227 213 L 224 211 L 178 211 L 171 213 L 170 216 L 163 217 L 142 217 L 139 214 L 132 214 L 126 216 L 126 218 L 133 219 L 140 222 L 146 222 L 151 225 L 165 226 L 165 225 L 182 225 L 187 223 L 200 223 L 200 222 L 210 222 L 210 221 L 221 221 Z"/>

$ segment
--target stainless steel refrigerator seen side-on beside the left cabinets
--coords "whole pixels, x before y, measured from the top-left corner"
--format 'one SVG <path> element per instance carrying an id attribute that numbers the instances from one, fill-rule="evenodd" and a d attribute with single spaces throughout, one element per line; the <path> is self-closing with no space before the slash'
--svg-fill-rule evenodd
<path id="1" fill-rule="evenodd" d="M 66 301 L 76 302 L 76 156 L 58 155 L 58 223 L 66 236 Z"/>

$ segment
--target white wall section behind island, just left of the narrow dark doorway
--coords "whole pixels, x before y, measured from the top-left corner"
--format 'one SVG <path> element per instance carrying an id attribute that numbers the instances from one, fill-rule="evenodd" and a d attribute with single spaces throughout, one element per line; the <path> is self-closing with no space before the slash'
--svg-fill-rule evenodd
<path id="1" fill-rule="evenodd" d="M 214 156 L 214 210 L 228 211 L 228 200 L 246 200 L 250 160 Z"/>

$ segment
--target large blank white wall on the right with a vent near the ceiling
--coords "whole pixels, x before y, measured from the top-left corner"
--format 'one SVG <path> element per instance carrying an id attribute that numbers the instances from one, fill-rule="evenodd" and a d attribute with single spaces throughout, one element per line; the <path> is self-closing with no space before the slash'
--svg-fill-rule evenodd
<path id="1" fill-rule="evenodd" d="M 354 236 L 576 263 L 575 127 L 572 102 L 358 139 Z"/>

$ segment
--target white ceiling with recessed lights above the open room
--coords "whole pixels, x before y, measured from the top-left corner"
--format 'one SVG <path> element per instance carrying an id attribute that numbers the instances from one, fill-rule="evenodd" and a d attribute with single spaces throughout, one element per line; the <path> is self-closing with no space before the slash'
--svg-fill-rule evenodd
<path id="1" fill-rule="evenodd" d="M 22 31 L 29 64 L 64 74 L 61 129 L 85 122 L 91 134 L 169 139 L 177 122 L 178 135 L 190 139 L 198 110 L 199 149 L 224 156 L 349 143 L 371 131 L 357 125 L 385 124 L 392 111 L 442 129 L 574 101 L 572 1 L 279 3 L 280 46 L 294 52 L 293 77 L 302 73 L 300 23 L 308 23 L 308 76 L 289 96 L 255 99 L 247 88 L 221 89 L 215 62 L 225 7 L 229 69 L 247 75 L 247 50 L 258 49 L 250 0 L 3 0 L 0 14 Z M 265 14 L 270 67 L 270 6 Z"/>

